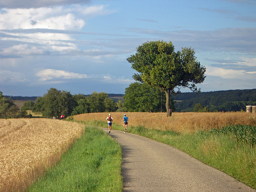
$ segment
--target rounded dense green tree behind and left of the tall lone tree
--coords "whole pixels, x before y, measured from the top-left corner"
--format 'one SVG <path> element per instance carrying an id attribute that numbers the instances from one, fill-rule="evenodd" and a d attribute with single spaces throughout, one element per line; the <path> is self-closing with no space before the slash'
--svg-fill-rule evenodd
<path id="1" fill-rule="evenodd" d="M 130 84 L 125 89 L 123 98 L 124 108 L 130 112 L 160 112 L 161 105 L 164 106 L 166 101 L 165 94 L 162 94 L 158 88 L 139 82 Z"/>

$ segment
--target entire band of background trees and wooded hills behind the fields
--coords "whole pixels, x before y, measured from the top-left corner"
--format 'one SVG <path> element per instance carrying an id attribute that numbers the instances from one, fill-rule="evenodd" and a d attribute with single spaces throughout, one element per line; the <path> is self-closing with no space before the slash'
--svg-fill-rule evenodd
<path id="1" fill-rule="evenodd" d="M 114 101 L 109 96 L 123 96 Z M 174 99 L 184 99 L 175 102 Z M 91 95 L 75 94 L 51 88 L 35 102 L 26 101 L 21 110 L 13 100 L 0 92 L 0 118 L 28 117 L 26 110 L 41 113 L 43 117 L 57 117 L 97 112 L 166 112 L 166 97 L 160 89 L 146 83 L 134 82 L 125 89 L 125 94 L 110 95 L 93 92 Z M 170 102 L 176 112 L 245 111 L 246 105 L 256 105 L 256 89 L 181 93 Z"/>

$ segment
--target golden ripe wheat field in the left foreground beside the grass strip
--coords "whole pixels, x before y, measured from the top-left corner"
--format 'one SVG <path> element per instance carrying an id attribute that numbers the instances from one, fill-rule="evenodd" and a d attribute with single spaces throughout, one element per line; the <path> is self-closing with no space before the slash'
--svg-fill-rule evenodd
<path id="1" fill-rule="evenodd" d="M 0 119 L 0 191 L 23 191 L 81 136 L 84 125 L 53 119 Z"/>

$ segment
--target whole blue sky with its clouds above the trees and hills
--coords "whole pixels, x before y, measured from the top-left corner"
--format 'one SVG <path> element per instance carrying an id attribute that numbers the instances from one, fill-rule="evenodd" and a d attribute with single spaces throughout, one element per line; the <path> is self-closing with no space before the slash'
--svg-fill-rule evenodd
<path id="1" fill-rule="evenodd" d="M 203 92 L 255 89 L 255 10 L 254 0 L 1 1 L 0 91 L 123 94 L 136 73 L 126 58 L 153 40 L 195 49 Z"/>

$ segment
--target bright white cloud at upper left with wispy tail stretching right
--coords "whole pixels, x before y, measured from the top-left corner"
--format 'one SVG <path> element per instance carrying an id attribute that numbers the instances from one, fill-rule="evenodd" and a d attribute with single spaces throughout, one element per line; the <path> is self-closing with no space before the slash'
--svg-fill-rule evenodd
<path id="1" fill-rule="evenodd" d="M 107 8 L 108 6 L 104 5 L 72 5 L 69 8 L 63 6 L 30 9 L 4 8 L 0 11 L 0 29 L 79 30 L 85 25 L 84 19 L 114 12 Z"/>

